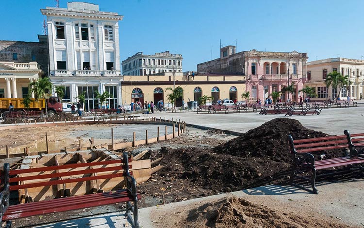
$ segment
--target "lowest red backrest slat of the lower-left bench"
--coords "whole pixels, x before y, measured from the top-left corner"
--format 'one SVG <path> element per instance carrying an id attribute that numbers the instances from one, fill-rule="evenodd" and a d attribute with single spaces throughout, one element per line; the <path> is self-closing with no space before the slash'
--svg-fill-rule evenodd
<path id="1" fill-rule="evenodd" d="M 130 175 L 132 175 L 132 172 L 130 172 Z M 9 186 L 9 190 L 12 191 L 12 190 L 25 189 L 25 188 L 50 186 L 50 185 L 56 185 L 56 184 L 83 182 L 83 181 L 90 181 L 90 180 L 95 180 L 95 179 L 110 179 L 110 178 L 123 177 L 123 176 L 125 176 L 124 172 L 116 173 L 116 174 L 113 173 L 113 174 L 108 174 L 108 175 L 92 176 L 92 177 L 83 177 L 83 178 L 50 180 L 50 181 L 46 181 L 46 182 L 37 182 L 37 183 L 32 183 L 32 184 L 12 185 L 12 186 Z"/>

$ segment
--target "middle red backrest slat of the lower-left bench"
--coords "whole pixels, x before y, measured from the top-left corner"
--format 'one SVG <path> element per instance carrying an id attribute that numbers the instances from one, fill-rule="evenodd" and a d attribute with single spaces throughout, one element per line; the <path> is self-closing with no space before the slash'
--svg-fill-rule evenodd
<path id="1" fill-rule="evenodd" d="M 131 169 L 132 165 L 129 165 L 129 168 Z M 122 169 L 123 168 L 120 168 L 120 166 L 113 166 L 113 167 L 84 169 L 84 170 L 61 172 L 61 173 L 40 174 L 40 175 L 33 175 L 33 176 L 27 176 L 27 177 L 10 178 L 9 183 L 19 182 L 19 181 L 24 181 L 24 180 L 57 178 L 57 177 L 66 177 L 66 176 L 80 175 L 80 174 L 91 174 L 91 173 L 99 173 L 99 172 L 122 170 Z"/>

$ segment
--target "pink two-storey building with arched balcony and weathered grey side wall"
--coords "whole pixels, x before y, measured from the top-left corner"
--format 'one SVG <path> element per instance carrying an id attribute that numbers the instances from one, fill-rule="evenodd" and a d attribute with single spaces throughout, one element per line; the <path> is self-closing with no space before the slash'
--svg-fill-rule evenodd
<path id="1" fill-rule="evenodd" d="M 227 72 L 246 76 L 246 90 L 251 100 L 268 98 L 274 91 L 292 85 L 294 94 L 282 92 L 282 101 L 298 101 L 299 90 L 306 81 L 306 53 L 242 51 L 234 46 L 221 48 L 219 59 L 197 65 L 198 72 Z"/>

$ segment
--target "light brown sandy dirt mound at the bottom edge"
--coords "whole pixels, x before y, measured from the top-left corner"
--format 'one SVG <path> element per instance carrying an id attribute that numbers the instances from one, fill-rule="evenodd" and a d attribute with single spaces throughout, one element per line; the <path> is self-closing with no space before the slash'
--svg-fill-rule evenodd
<path id="1" fill-rule="evenodd" d="M 207 203 L 197 209 L 193 209 L 188 213 L 188 217 L 185 220 L 178 222 L 178 226 L 181 226 L 181 224 L 185 228 L 349 227 L 302 214 L 298 215 L 292 212 L 270 209 L 236 197 Z"/>

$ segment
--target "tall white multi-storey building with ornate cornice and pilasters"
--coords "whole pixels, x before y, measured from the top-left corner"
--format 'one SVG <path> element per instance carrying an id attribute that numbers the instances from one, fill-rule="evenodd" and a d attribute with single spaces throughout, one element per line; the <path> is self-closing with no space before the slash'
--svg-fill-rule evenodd
<path id="1" fill-rule="evenodd" d="M 50 79 L 66 87 L 63 101 L 85 93 L 86 110 L 97 108 L 95 91 L 110 92 L 110 108 L 121 104 L 119 24 L 124 16 L 99 6 L 69 2 L 66 8 L 41 9 L 47 16 Z"/>

